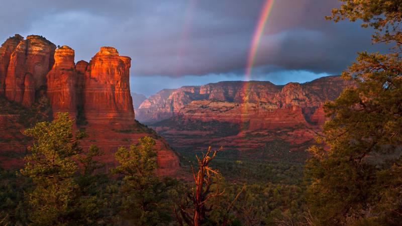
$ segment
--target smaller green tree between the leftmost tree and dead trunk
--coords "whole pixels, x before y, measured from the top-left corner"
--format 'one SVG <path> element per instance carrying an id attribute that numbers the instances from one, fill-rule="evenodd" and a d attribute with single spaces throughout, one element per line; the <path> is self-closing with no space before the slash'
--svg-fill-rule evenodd
<path id="1" fill-rule="evenodd" d="M 174 181 L 163 181 L 155 174 L 157 168 L 155 140 L 139 139 L 130 149 L 120 147 L 115 153 L 119 166 L 112 170 L 123 176 L 120 186 L 122 221 L 133 225 L 157 225 L 170 221 L 169 189 Z"/>

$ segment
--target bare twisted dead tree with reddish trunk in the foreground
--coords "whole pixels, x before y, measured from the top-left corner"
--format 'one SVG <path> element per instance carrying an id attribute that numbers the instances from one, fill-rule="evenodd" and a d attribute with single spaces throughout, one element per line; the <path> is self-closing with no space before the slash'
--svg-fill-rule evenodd
<path id="1" fill-rule="evenodd" d="M 211 147 L 209 147 L 208 151 L 203 153 L 202 158 L 199 158 L 197 155 L 195 156 L 197 158 L 198 171 L 195 173 L 194 168 L 191 166 L 194 186 L 191 188 L 191 191 L 186 194 L 185 200 L 178 205 L 178 209 L 174 207 L 174 213 L 177 222 L 180 225 L 184 225 L 184 222 L 189 226 L 200 225 L 200 223 L 206 219 L 206 214 L 213 209 L 213 204 L 208 205 L 207 201 L 213 197 L 224 194 L 225 189 L 222 192 L 211 191 L 214 179 L 220 179 L 221 175 L 217 170 L 214 170 L 209 166 L 217 153 L 222 150 L 223 147 L 212 151 Z M 233 202 L 228 206 L 228 211 L 232 208 L 234 202 L 242 191 L 243 188 L 239 194 L 236 195 Z M 223 225 L 226 225 L 227 221 L 228 219 L 225 217 Z"/>

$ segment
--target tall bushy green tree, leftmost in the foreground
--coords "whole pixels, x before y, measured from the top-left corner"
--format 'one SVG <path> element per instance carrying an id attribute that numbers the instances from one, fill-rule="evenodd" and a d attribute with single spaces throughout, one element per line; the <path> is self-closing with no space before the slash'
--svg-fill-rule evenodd
<path id="1" fill-rule="evenodd" d="M 37 123 L 24 134 L 34 139 L 25 157 L 22 175 L 32 179 L 34 187 L 25 194 L 30 205 L 29 219 L 33 225 L 88 225 L 96 224 L 96 197 L 80 186 L 77 160 L 83 163 L 83 177 L 96 164 L 92 157 L 97 148 L 91 147 L 86 157 L 80 157 L 79 140 L 82 133 L 73 136 L 73 121 L 68 113 L 59 113 L 52 122 Z M 84 155 L 84 154 L 82 154 Z"/>

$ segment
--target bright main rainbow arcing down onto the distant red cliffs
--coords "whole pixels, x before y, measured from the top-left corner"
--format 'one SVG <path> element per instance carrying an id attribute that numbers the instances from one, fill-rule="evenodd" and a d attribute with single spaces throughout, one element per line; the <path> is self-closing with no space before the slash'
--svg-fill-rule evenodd
<path id="1" fill-rule="evenodd" d="M 251 40 L 250 51 L 249 51 L 249 54 L 247 57 L 247 65 L 246 65 L 246 71 L 245 71 L 245 80 L 246 81 L 248 81 L 251 77 L 255 58 L 258 53 L 258 47 L 260 45 L 261 37 L 264 34 L 264 30 L 265 30 L 267 21 L 269 19 L 269 15 L 272 12 L 274 3 L 275 3 L 275 0 L 266 0 L 263 8 L 261 10 L 256 29 L 254 31 L 254 35 Z M 247 128 L 245 128 L 246 120 L 244 117 L 246 114 L 248 114 L 249 89 L 250 89 L 249 82 L 245 82 L 245 84 L 243 86 L 243 92 L 244 92 L 243 105 L 244 106 L 242 107 L 242 130 L 247 129 Z"/>

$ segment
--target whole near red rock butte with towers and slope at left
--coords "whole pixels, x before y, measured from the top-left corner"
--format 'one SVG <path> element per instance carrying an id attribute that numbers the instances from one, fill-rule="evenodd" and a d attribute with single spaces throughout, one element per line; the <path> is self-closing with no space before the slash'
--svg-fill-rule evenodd
<path id="1" fill-rule="evenodd" d="M 120 56 L 113 47 L 100 48 L 89 63 L 75 64 L 74 50 L 68 46 L 56 49 L 36 35 L 9 38 L 0 48 L 2 165 L 22 164 L 28 140 L 21 132 L 61 111 L 69 112 L 76 129 L 89 135 L 83 147 L 96 144 L 109 166 L 115 164 L 118 147 L 152 136 L 157 140 L 159 174 L 174 174 L 179 168 L 175 153 L 163 138 L 134 120 L 130 63 L 130 57 Z"/>

